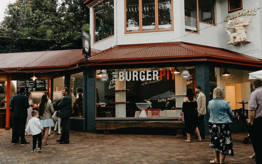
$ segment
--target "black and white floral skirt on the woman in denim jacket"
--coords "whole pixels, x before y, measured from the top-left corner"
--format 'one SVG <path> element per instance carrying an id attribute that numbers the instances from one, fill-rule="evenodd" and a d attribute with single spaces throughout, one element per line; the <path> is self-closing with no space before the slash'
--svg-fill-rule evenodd
<path id="1" fill-rule="evenodd" d="M 209 123 L 210 148 L 226 156 L 233 156 L 233 142 L 229 123 Z"/>

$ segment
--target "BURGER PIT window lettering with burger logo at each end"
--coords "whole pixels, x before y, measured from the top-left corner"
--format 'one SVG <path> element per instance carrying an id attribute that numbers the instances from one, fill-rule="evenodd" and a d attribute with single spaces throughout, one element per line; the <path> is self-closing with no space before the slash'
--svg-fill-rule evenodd
<path id="1" fill-rule="evenodd" d="M 172 73 L 170 75 L 170 72 Z M 182 78 L 187 79 L 190 74 L 189 71 L 184 70 L 181 73 Z M 119 79 L 119 81 L 146 81 L 146 80 L 162 80 L 163 78 L 166 78 L 167 80 L 174 80 L 175 79 L 175 70 L 147 70 L 147 71 L 118 71 L 118 72 L 112 72 L 112 80 L 115 81 Z M 108 80 L 108 74 L 103 73 L 101 75 L 102 81 Z"/>

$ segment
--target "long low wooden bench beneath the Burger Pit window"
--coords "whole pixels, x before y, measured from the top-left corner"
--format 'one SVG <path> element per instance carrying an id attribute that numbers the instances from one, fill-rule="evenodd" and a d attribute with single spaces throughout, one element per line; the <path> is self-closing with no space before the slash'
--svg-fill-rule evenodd
<path id="1" fill-rule="evenodd" d="M 177 136 L 183 136 L 184 127 L 182 121 L 96 121 L 96 130 L 104 130 L 104 134 L 124 128 L 170 128 L 177 129 Z"/>

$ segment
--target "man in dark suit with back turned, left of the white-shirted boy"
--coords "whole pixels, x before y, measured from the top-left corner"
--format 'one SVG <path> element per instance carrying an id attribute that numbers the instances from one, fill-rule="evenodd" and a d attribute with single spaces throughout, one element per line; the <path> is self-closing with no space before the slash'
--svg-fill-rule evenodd
<path id="1" fill-rule="evenodd" d="M 25 88 L 20 88 L 20 93 L 12 98 L 9 107 L 13 110 L 12 145 L 20 143 L 17 139 L 20 136 L 21 145 L 28 145 L 25 140 L 25 124 L 27 109 L 29 108 L 28 98 L 25 96 Z"/>

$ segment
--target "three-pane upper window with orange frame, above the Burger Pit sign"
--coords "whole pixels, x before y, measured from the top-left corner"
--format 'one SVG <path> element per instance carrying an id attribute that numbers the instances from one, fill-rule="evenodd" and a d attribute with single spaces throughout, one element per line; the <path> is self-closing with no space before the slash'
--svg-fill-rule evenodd
<path id="1" fill-rule="evenodd" d="M 126 33 L 173 30 L 172 0 L 125 0 Z"/>

